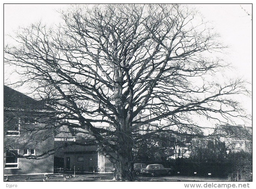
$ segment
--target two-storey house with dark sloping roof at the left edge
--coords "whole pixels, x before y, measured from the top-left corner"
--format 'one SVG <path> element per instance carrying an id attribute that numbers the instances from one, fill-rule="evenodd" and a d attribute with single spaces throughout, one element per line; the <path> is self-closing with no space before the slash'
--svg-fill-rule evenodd
<path id="1" fill-rule="evenodd" d="M 4 175 L 53 172 L 54 156 L 49 150 L 54 147 L 54 136 L 45 129 L 52 112 L 45 104 L 4 86 Z"/>

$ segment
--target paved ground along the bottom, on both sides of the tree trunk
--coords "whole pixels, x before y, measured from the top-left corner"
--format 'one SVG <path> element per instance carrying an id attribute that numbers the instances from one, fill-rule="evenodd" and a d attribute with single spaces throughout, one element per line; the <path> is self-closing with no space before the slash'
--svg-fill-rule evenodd
<path id="1" fill-rule="evenodd" d="M 68 174 L 50 174 L 48 177 L 45 175 L 17 175 L 9 176 L 9 181 L 111 181 L 113 174 L 83 174 L 76 175 L 76 177 L 68 176 Z M 65 179 L 64 179 L 65 177 Z M 190 176 L 166 176 L 166 175 L 156 175 L 154 177 L 150 176 L 139 176 L 141 181 L 228 181 L 228 179 L 223 178 L 213 178 L 213 177 L 190 177 Z M 4 181 L 6 176 L 4 177 Z"/>

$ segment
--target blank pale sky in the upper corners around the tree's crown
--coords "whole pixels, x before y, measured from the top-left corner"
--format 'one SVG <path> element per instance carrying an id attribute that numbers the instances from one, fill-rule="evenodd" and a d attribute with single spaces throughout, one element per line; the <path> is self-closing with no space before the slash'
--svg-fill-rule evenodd
<path id="1" fill-rule="evenodd" d="M 213 24 L 221 36 L 220 41 L 229 46 L 224 61 L 236 70 L 227 73 L 231 77 L 243 77 L 252 82 L 252 5 L 251 4 L 192 4 L 205 21 Z M 11 43 L 6 34 L 13 35 L 19 26 L 29 26 L 42 20 L 52 25 L 60 22 L 57 10 L 66 9 L 69 4 L 5 4 L 4 43 Z M 248 15 L 248 13 L 250 15 Z M 4 82 L 11 82 L 8 71 L 4 71 Z M 248 101 L 248 99 L 246 99 Z M 245 102 L 251 112 L 251 100 Z"/>

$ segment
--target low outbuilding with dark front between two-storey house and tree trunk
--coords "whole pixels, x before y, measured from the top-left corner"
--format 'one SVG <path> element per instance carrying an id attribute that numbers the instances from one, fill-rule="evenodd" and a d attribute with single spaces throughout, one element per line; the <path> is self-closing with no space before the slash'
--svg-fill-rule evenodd
<path id="1" fill-rule="evenodd" d="M 111 172 L 114 166 L 100 153 L 98 147 L 93 145 L 93 138 L 90 139 L 85 129 L 61 126 L 54 140 L 55 148 L 59 148 L 54 154 L 55 172 L 93 172 L 96 167 L 99 167 L 99 172 Z"/>

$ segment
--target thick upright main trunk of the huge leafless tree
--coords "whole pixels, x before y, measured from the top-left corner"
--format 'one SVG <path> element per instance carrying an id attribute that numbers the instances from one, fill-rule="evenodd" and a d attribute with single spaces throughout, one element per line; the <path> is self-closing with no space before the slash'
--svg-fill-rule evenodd
<path id="1" fill-rule="evenodd" d="M 116 44 L 117 46 L 117 44 Z M 118 59 L 118 57 L 116 57 Z M 116 65 L 120 65 L 121 63 L 116 63 Z M 114 66 L 114 65 L 113 65 Z M 137 179 L 134 171 L 133 171 L 133 138 L 131 134 L 131 120 L 127 121 L 126 117 L 128 115 L 125 111 L 126 104 L 124 96 L 123 96 L 123 80 L 124 74 L 121 66 L 118 66 L 114 70 L 114 97 L 116 104 L 116 111 L 118 115 L 116 115 L 117 124 L 117 160 L 114 162 L 114 167 L 116 168 L 114 171 L 114 180 L 120 181 L 132 181 Z M 133 106 L 131 107 L 133 109 Z M 131 113 L 131 112 L 130 112 Z M 129 116 L 131 117 L 131 115 Z"/>

